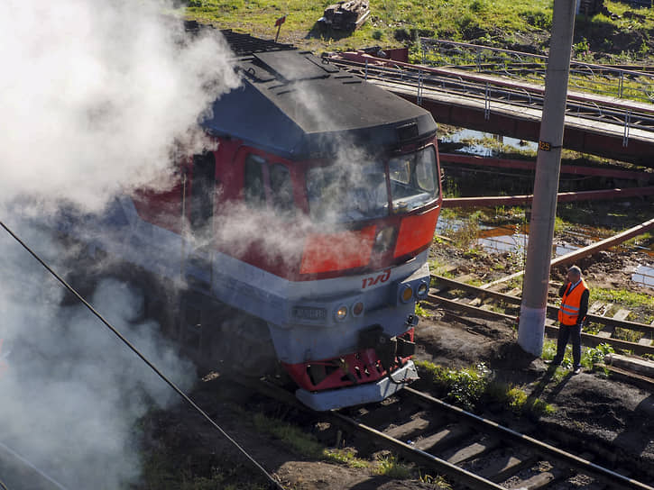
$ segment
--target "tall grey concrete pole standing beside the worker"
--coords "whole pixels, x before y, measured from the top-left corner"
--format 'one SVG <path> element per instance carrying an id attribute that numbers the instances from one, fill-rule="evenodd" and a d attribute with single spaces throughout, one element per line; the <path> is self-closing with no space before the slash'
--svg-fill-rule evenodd
<path id="1" fill-rule="evenodd" d="M 518 328 L 520 347 L 535 356 L 542 354 L 545 334 L 549 262 L 552 259 L 554 219 L 557 215 L 558 174 L 561 168 L 567 77 L 570 71 L 575 12 L 575 0 L 554 0 L 548 71 L 545 77 L 545 101 L 540 122 L 539 154 L 536 159 L 531 207 L 530 240 Z"/>

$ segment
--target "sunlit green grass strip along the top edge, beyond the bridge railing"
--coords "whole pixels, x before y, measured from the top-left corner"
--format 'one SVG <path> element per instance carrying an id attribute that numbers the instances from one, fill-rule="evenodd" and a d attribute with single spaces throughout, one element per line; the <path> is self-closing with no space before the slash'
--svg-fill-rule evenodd
<path id="1" fill-rule="evenodd" d="M 410 44 L 414 60 L 421 59 L 415 42 L 419 36 L 474 41 L 493 47 L 520 45 L 525 35 L 534 35 L 535 48 L 545 49 L 551 27 L 551 0 L 371 0 L 371 16 L 355 32 L 320 32 L 316 21 L 331 0 L 187 0 L 188 8 L 178 10 L 188 18 L 214 23 L 221 29 L 251 32 L 274 38 L 275 19 L 288 14 L 281 26 L 280 41 L 292 42 L 314 51 L 345 50 L 366 46 L 399 47 Z M 651 9 L 633 10 L 628 5 L 606 1 L 605 5 L 622 17 L 612 19 L 602 14 L 591 19 L 577 18 L 577 56 L 597 59 L 600 52 L 615 51 L 611 43 L 615 32 L 633 33 L 627 50 L 613 52 L 615 59 L 638 59 L 651 56 L 649 32 L 654 24 Z M 631 10 L 644 15 L 644 21 L 623 14 Z M 646 42 L 643 42 L 646 41 Z M 432 55 L 438 56 L 438 53 Z"/>

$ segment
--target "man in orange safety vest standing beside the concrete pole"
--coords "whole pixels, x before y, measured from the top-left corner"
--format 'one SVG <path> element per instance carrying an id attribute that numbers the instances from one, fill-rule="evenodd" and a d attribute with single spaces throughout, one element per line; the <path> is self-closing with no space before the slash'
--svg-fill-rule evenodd
<path id="1" fill-rule="evenodd" d="M 566 353 L 567 340 L 572 340 L 573 374 L 581 372 L 581 329 L 588 313 L 588 285 L 581 277 L 581 269 L 572 266 L 567 269 L 566 282 L 558 290 L 561 307 L 558 310 L 557 355 L 551 365 L 558 366 Z"/>

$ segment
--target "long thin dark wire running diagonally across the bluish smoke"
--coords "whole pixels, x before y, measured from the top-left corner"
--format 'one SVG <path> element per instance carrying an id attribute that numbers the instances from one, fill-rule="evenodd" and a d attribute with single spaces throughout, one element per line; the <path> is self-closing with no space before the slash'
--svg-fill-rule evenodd
<path id="1" fill-rule="evenodd" d="M 145 364 L 147 364 L 148 367 L 150 367 L 152 369 L 152 371 L 154 371 L 157 374 L 158 377 L 161 377 L 161 379 L 168 386 L 170 386 L 170 388 L 172 388 L 178 395 L 180 395 L 184 399 L 184 401 L 187 404 L 189 404 L 196 412 L 198 412 L 200 415 L 202 415 L 207 420 L 207 422 L 209 422 L 216 429 L 216 431 L 219 431 L 226 438 L 226 440 L 229 440 L 232 444 L 234 444 L 235 448 L 238 449 L 245 456 L 245 458 L 248 458 L 250 460 L 250 462 L 254 465 L 254 467 L 259 469 L 259 471 L 261 471 L 263 473 L 263 475 L 268 478 L 268 480 L 273 485 L 273 487 L 284 490 L 284 487 L 281 486 L 281 484 L 277 480 L 275 480 L 272 477 L 272 475 L 270 473 L 268 473 L 268 471 L 266 471 L 266 469 L 264 467 L 262 467 L 252 456 L 250 456 L 250 454 L 248 454 L 247 451 L 245 451 L 245 449 L 242 448 L 238 444 L 238 442 L 236 442 L 234 439 L 232 439 L 232 437 L 230 437 L 229 434 L 227 434 L 226 431 L 224 431 L 222 427 L 220 427 L 216 422 L 214 422 L 214 420 L 211 417 L 209 417 L 208 414 L 204 410 L 202 410 L 195 402 L 193 402 L 193 400 L 191 400 L 189 398 L 189 395 L 186 395 L 180 389 L 179 386 L 175 385 L 175 383 L 173 383 L 168 377 L 166 377 L 159 370 L 158 367 L 154 366 L 154 364 L 152 364 L 150 359 L 146 358 L 138 349 L 136 349 L 134 347 L 134 345 L 132 345 L 132 343 L 129 340 L 125 339 L 123 334 L 120 331 L 115 329 L 115 327 L 111 323 L 107 322 L 106 319 L 100 313 L 98 313 L 97 310 L 91 304 L 89 304 L 87 300 L 85 300 L 81 295 L 79 295 L 79 293 L 72 286 L 70 286 L 63 279 L 63 277 L 60 277 L 59 274 L 57 274 L 48 264 L 46 264 L 45 261 L 43 259 L 41 259 L 41 257 L 39 257 L 39 255 L 35 251 L 33 251 L 23 240 L 21 240 L 18 237 L 18 235 L 16 235 L 14 233 L 14 231 L 12 231 L 2 221 L 0 221 L 0 226 L 2 226 L 5 229 L 5 231 L 7 233 L 9 233 L 12 236 L 12 238 L 14 238 L 14 240 L 16 240 L 18 243 L 20 243 L 20 245 L 23 247 L 23 249 L 27 250 L 30 253 L 30 255 L 32 255 L 32 257 L 34 259 L 36 259 L 41 264 L 41 266 L 43 266 L 43 268 L 45 268 L 48 272 L 50 272 L 53 277 L 55 277 L 64 287 L 66 287 L 66 289 L 68 289 L 70 293 L 75 295 L 75 297 L 77 297 L 78 300 L 82 304 L 84 304 L 91 313 L 96 315 L 97 319 L 100 320 L 100 322 L 103 322 L 105 324 L 106 328 L 108 328 L 110 331 L 113 331 L 115 336 L 118 337 L 118 339 L 120 339 L 129 349 L 132 349 L 134 354 L 136 354 L 139 358 L 141 358 L 141 360 L 143 360 L 143 362 Z"/>

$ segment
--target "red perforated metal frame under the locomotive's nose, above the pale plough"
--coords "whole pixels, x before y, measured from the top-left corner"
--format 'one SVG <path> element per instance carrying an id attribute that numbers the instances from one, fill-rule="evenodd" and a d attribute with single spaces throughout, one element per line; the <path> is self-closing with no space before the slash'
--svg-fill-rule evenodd
<path id="1" fill-rule="evenodd" d="M 411 328 L 398 337 L 412 342 L 413 329 Z M 410 356 L 394 358 L 389 370 L 393 372 L 398 367 L 406 364 L 409 359 Z M 388 374 L 388 371 L 382 367 L 382 361 L 373 348 L 360 350 L 340 358 L 315 360 L 299 364 L 282 363 L 282 365 L 298 386 L 307 391 L 322 391 L 361 383 L 372 383 Z"/>

